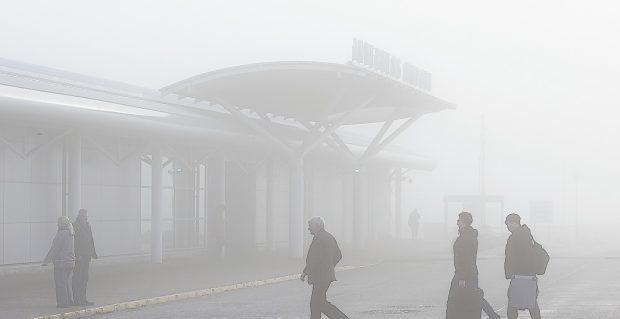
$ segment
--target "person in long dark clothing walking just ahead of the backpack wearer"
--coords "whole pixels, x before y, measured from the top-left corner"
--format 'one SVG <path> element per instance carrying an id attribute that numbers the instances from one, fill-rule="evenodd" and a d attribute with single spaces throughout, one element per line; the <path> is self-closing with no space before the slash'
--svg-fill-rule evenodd
<path id="1" fill-rule="evenodd" d="M 478 231 L 471 227 L 472 223 L 473 217 L 468 212 L 461 212 L 456 221 L 459 236 L 453 245 L 454 277 L 448 293 L 446 319 L 480 319 L 481 310 L 489 318 L 499 319 L 478 287 Z"/>

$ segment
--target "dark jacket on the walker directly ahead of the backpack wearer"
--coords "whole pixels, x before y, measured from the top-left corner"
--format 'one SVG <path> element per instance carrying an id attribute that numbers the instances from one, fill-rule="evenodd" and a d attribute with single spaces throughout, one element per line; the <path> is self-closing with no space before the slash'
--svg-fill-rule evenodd
<path id="1" fill-rule="evenodd" d="M 454 251 L 454 277 L 458 280 L 478 276 L 478 231 L 471 226 L 459 229 L 459 237 L 452 246 Z"/>

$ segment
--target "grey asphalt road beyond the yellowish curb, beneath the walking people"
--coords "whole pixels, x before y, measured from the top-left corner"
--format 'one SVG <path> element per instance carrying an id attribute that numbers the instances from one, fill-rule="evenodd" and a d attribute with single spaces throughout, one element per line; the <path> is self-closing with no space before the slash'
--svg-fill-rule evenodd
<path id="1" fill-rule="evenodd" d="M 505 317 L 503 260 L 478 265 L 487 300 Z M 543 318 L 619 318 L 619 259 L 556 259 L 549 267 L 540 279 Z M 351 318 L 437 319 L 451 275 L 449 260 L 386 261 L 339 273 L 328 298 Z M 309 318 L 309 297 L 309 287 L 294 280 L 95 318 Z"/>

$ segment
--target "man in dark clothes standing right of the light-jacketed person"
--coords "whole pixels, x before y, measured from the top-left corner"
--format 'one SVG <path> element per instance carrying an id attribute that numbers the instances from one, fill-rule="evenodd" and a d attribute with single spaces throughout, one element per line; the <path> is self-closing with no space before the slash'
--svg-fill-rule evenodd
<path id="1" fill-rule="evenodd" d="M 86 299 L 86 284 L 92 258 L 97 259 L 93 232 L 88 222 L 88 211 L 80 209 L 73 223 L 75 230 L 75 269 L 73 271 L 73 301 L 78 306 L 91 306 Z"/>

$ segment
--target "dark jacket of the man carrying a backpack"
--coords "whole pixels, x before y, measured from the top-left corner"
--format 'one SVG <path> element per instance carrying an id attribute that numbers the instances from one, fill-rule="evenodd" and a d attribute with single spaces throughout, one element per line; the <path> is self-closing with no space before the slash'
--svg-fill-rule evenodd
<path id="1" fill-rule="evenodd" d="M 536 275 L 531 261 L 532 247 L 532 232 L 527 225 L 523 224 L 512 232 L 506 242 L 506 259 L 504 260 L 506 279 L 514 275 Z"/>

